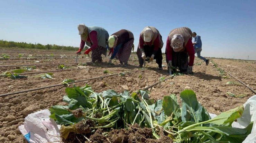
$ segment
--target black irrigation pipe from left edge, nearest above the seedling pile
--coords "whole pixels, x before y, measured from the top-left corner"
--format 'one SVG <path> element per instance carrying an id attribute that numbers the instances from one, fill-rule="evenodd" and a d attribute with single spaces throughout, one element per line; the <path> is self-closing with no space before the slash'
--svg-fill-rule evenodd
<path id="1" fill-rule="evenodd" d="M 130 72 L 123 72 L 123 73 L 138 72 L 138 71 L 140 71 L 140 70 L 147 70 L 147 69 L 139 69 L 139 70 L 133 70 L 133 71 L 130 71 Z M 84 80 L 78 80 L 78 81 L 74 81 L 74 82 L 71 82 L 71 83 L 68 83 L 68 84 L 74 84 L 74 83 L 79 83 L 79 82 L 87 81 L 87 80 L 93 80 L 93 79 L 98 79 L 98 78 L 104 78 L 104 77 L 109 77 L 109 76 L 115 76 L 115 75 L 119 75 L 119 74 L 120 74 L 120 73 L 118 73 L 118 74 L 113 74 L 113 75 L 107 75 L 107 76 L 101 76 L 101 77 L 94 77 L 94 78 L 89 78 L 89 79 L 84 79 Z M 41 88 L 23 90 L 23 91 L 8 93 L 8 94 L 1 94 L 0 97 L 8 96 L 8 95 L 20 94 L 20 93 L 24 93 L 24 92 L 35 91 L 35 90 L 40 90 L 40 89 L 45 89 L 45 88 L 51 88 L 51 87 L 56 87 L 56 86 L 63 86 L 63 85 L 65 85 L 65 84 L 58 84 L 58 85 L 52 85 L 52 86 L 45 86 L 45 87 L 41 87 Z"/>

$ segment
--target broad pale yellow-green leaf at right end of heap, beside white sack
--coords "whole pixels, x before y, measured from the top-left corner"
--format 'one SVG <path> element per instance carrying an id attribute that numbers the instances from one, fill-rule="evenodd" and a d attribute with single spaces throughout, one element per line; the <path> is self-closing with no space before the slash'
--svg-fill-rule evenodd
<path id="1" fill-rule="evenodd" d="M 240 118 L 243 114 L 244 106 L 241 105 L 234 109 L 228 110 L 226 112 L 220 113 L 215 118 L 211 119 L 210 123 L 217 124 L 217 125 L 225 125 L 227 123 L 234 122 L 237 118 Z"/>

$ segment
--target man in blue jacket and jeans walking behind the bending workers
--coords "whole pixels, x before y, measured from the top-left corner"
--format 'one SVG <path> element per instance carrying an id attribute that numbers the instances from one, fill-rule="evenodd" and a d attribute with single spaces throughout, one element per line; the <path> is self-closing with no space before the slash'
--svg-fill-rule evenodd
<path id="1" fill-rule="evenodd" d="M 201 51 L 202 51 L 201 36 L 196 35 L 195 32 L 193 32 L 192 35 L 193 35 L 193 37 L 194 37 L 194 43 L 193 43 L 193 45 L 194 45 L 194 50 L 195 50 L 195 53 L 196 53 L 197 57 L 200 58 L 200 59 L 202 59 L 202 60 L 206 63 L 206 65 L 208 65 L 210 60 L 209 60 L 209 59 L 206 59 L 206 58 L 204 58 L 204 57 L 202 57 L 202 56 L 200 55 L 200 54 L 201 54 Z"/>

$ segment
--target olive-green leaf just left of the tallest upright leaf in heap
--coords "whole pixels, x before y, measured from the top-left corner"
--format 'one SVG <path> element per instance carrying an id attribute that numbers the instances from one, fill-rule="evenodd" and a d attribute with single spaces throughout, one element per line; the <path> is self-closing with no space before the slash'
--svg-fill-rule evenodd
<path id="1" fill-rule="evenodd" d="M 163 100 L 163 109 L 165 115 L 171 116 L 173 113 L 175 118 L 179 118 L 181 115 L 181 110 L 179 104 L 177 104 L 170 96 L 165 96 Z"/>

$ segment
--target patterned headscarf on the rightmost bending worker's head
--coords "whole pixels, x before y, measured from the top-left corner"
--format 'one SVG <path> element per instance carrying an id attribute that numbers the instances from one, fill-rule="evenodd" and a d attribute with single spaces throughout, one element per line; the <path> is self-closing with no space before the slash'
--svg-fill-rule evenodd
<path id="1" fill-rule="evenodd" d="M 180 34 L 174 34 L 171 41 L 171 47 L 174 52 L 179 52 L 183 49 L 184 38 Z"/>

